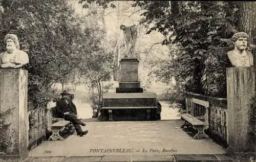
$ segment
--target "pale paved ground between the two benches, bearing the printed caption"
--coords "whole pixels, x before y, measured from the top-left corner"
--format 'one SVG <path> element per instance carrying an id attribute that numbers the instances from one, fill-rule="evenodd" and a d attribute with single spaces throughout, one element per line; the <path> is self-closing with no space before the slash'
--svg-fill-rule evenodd
<path id="1" fill-rule="evenodd" d="M 45 141 L 29 152 L 25 162 L 71 161 L 232 161 L 225 149 L 211 139 L 194 140 L 180 129 L 177 109 L 162 102 L 161 121 L 98 122 L 83 120 L 89 133 L 70 135 L 65 141 Z M 78 113 L 90 117 L 84 104 Z M 173 119 L 173 120 L 168 120 Z"/>

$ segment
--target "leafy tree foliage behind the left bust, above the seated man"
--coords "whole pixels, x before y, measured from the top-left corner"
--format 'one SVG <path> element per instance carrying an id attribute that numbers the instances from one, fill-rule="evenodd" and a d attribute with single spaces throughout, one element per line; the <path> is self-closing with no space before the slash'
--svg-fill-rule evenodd
<path id="1" fill-rule="evenodd" d="M 3 1 L 0 36 L 16 34 L 20 49 L 28 53 L 28 97 L 34 107 L 45 105 L 57 94 L 55 83 L 77 82 L 87 72 L 102 70 L 104 62 L 99 46 L 104 31 L 84 26 L 65 0 Z M 1 51 L 5 50 L 3 39 Z M 77 80 L 77 79 L 78 80 Z"/>

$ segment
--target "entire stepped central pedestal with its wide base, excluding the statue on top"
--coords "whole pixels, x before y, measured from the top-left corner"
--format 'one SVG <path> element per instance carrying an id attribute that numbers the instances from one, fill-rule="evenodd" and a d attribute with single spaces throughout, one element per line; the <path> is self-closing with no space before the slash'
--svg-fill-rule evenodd
<path id="1" fill-rule="evenodd" d="M 105 120 L 154 120 L 156 94 L 143 92 L 138 77 L 138 59 L 121 59 L 119 87 L 116 93 L 103 95 L 102 116 Z"/>

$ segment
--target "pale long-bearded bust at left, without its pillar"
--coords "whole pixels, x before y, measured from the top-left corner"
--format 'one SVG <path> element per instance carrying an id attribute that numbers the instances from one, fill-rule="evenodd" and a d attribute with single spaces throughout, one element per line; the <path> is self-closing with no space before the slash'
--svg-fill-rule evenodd
<path id="1" fill-rule="evenodd" d="M 5 36 L 6 51 L 0 54 L 1 68 L 20 68 L 29 62 L 28 54 L 19 50 L 18 37 L 14 34 Z"/>

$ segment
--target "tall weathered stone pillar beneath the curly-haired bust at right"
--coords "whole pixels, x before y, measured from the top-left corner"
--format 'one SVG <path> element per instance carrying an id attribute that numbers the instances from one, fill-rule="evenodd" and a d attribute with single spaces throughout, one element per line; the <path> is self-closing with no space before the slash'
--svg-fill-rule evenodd
<path id="1" fill-rule="evenodd" d="M 253 128 L 254 72 L 253 67 L 227 68 L 227 141 L 228 153 L 250 156 L 255 152 Z M 241 158 L 241 157 L 240 157 Z"/>

